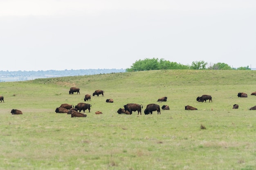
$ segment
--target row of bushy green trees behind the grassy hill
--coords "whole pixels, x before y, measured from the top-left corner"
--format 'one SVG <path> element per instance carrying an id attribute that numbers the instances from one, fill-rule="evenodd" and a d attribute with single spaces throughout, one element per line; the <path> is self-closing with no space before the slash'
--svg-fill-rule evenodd
<path id="1" fill-rule="evenodd" d="M 148 71 L 148 70 L 178 70 L 178 69 L 191 69 L 191 70 L 251 70 L 249 66 L 232 68 L 226 63 L 208 64 L 207 62 L 195 61 L 191 65 L 184 65 L 177 62 L 170 62 L 163 58 L 145 58 L 144 60 L 136 60 L 130 68 L 126 68 L 127 72 L 131 71 Z"/>

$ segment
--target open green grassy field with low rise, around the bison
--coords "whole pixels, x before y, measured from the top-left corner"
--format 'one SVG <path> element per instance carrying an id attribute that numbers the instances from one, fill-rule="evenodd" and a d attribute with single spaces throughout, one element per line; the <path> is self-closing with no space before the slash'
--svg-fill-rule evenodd
<path id="1" fill-rule="evenodd" d="M 80 95 L 69 95 L 79 87 Z M 92 96 L 87 117 L 55 113 Z M 162 70 L 1 82 L 1 170 L 255 170 L 255 71 Z M 244 92 L 247 98 L 238 98 Z M 201 95 L 213 102 L 197 102 Z M 160 97 L 167 102 L 157 102 Z M 114 103 L 106 103 L 106 99 Z M 119 115 L 127 103 L 142 115 Z M 170 106 L 144 115 L 147 104 Z M 232 109 L 238 104 L 238 109 Z M 198 110 L 184 110 L 190 105 Z M 11 115 L 11 109 L 23 115 Z M 102 115 L 95 115 L 96 111 Z M 83 113 L 83 111 L 82 111 Z M 206 127 L 202 130 L 200 126 Z"/>

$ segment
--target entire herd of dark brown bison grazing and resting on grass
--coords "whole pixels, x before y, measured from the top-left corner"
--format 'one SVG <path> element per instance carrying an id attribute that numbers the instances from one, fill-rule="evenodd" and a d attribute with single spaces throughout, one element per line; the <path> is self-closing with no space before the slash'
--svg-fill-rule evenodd
<path id="1" fill-rule="evenodd" d="M 74 92 L 77 92 L 76 94 L 80 94 L 80 88 L 75 88 L 72 87 L 70 88 L 69 94 L 74 94 Z M 104 96 L 104 91 L 103 90 L 96 90 L 94 91 L 94 93 L 92 94 L 92 96 L 97 95 L 97 97 L 99 97 L 99 95 L 102 95 L 102 97 Z M 256 91 L 253 92 L 251 95 L 256 95 Z M 238 93 L 237 95 L 238 97 L 248 97 L 246 93 Z M 196 98 L 196 101 L 198 102 L 206 102 L 207 100 L 209 100 L 209 102 L 212 102 L 212 97 L 211 95 L 202 95 L 201 97 L 198 96 Z M 2 101 L 4 102 L 4 97 L 0 96 L 0 101 L 2 103 Z M 91 101 L 91 95 L 86 94 L 84 101 Z M 157 102 L 166 102 L 167 101 L 167 97 L 161 97 L 157 100 Z M 113 103 L 114 100 L 113 99 L 106 99 L 107 103 Z M 138 112 L 138 115 L 141 115 L 141 109 L 143 108 L 142 104 L 135 104 L 135 103 L 128 103 L 126 105 L 123 105 L 124 108 L 119 108 L 117 110 L 118 114 L 126 114 L 126 115 L 131 115 L 132 112 Z M 77 105 L 72 105 L 72 104 L 61 104 L 60 107 L 57 107 L 55 112 L 56 113 L 66 113 L 66 114 L 70 114 L 71 117 L 87 117 L 85 113 L 85 110 L 88 110 L 90 113 L 90 108 L 92 107 L 91 104 L 86 104 L 86 103 L 78 103 Z M 234 104 L 233 105 L 233 109 L 238 109 L 238 104 Z M 81 113 L 81 110 L 83 110 L 83 113 Z M 168 105 L 163 105 L 162 106 L 162 110 L 170 110 Z M 193 106 L 185 106 L 185 110 L 198 110 L 197 108 L 193 107 Z M 249 110 L 256 110 L 256 106 L 249 108 Z M 144 114 L 148 115 L 153 114 L 153 111 L 157 111 L 157 115 L 161 114 L 161 110 L 160 110 L 160 106 L 158 104 L 148 104 L 144 110 Z M 11 114 L 12 115 L 22 115 L 22 111 L 17 110 L 17 109 L 12 109 L 11 110 Z M 95 112 L 95 114 L 102 114 L 101 111 L 97 111 Z"/>

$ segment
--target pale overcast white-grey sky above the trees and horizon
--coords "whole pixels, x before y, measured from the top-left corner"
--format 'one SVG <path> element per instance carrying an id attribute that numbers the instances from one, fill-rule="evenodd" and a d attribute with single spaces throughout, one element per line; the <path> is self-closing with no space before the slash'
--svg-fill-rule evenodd
<path id="1" fill-rule="evenodd" d="M 256 68 L 256 0 L 0 0 L 0 70 L 163 58 Z"/>

